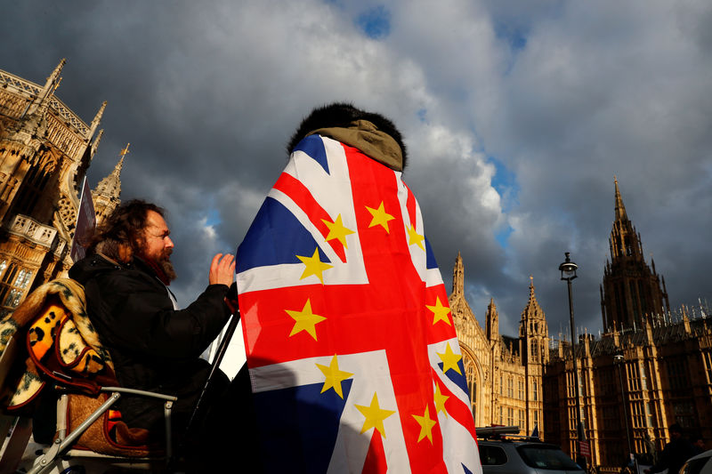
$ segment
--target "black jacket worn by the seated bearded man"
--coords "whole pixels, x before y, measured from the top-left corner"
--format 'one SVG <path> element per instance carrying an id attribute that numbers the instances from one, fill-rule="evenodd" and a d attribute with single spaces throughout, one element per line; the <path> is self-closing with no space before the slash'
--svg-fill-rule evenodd
<path id="1" fill-rule="evenodd" d="M 69 269 L 85 286 L 89 317 L 114 361 L 122 387 L 175 395 L 174 432 L 184 427 L 210 366 L 199 358 L 230 317 L 228 287 L 208 285 L 186 309 L 175 310 L 168 289 L 144 261 L 128 264 L 90 255 Z M 162 402 L 122 397 L 132 427 L 161 432 Z M 161 436 L 161 435 L 158 435 Z"/>

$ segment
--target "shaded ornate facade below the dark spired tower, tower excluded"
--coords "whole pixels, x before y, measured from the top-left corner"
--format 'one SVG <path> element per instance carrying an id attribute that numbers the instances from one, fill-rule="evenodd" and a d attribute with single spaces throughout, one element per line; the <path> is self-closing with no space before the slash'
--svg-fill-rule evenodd
<path id="1" fill-rule="evenodd" d="M 579 401 L 595 465 L 620 466 L 628 438 L 634 453 L 659 452 L 673 423 L 712 439 L 712 320 L 683 315 L 579 342 Z M 545 367 L 544 434 L 571 454 L 575 413 L 571 344 L 559 341 Z"/>

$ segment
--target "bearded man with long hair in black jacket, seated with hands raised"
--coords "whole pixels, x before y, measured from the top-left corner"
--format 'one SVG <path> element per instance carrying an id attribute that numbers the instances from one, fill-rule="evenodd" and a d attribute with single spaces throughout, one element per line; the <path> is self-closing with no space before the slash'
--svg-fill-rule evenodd
<path id="1" fill-rule="evenodd" d="M 169 236 L 161 208 L 129 201 L 102 222 L 88 256 L 69 269 L 69 277 L 85 286 L 89 317 L 121 386 L 178 397 L 172 431 L 180 436 L 210 371 L 200 354 L 231 315 L 225 296 L 234 281 L 235 261 L 232 255 L 215 255 L 206 290 L 188 308 L 178 309 L 168 289 L 175 278 Z M 215 390 L 227 390 L 227 376 L 216 378 Z M 118 408 L 129 427 L 146 428 L 159 440 L 164 436 L 162 404 L 125 396 Z"/>

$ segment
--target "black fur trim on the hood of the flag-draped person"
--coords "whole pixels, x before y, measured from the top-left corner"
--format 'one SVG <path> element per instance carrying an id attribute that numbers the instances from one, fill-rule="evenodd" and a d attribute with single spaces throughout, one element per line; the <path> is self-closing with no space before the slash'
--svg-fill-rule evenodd
<path id="1" fill-rule="evenodd" d="M 392 139 L 398 143 L 398 146 L 401 147 L 403 169 L 405 169 L 408 153 L 406 152 L 406 145 L 403 143 L 403 137 L 401 137 L 401 133 L 396 126 L 381 114 L 366 112 L 360 108 L 355 108 L 349 102 L 335 102 L 314 108 L 309 116 L 303 118 L 299 128 L 296 129 L 296 132 L 289 140 L 287 144 L 287 154 L 295 149 L 295 146 L 302 141 L 307 133 L 320 128 L 348 127 L 355 120 L 368 120 L 371 124 L 376 125 L 376 128 L 381 132 L 389 134 Z"/>

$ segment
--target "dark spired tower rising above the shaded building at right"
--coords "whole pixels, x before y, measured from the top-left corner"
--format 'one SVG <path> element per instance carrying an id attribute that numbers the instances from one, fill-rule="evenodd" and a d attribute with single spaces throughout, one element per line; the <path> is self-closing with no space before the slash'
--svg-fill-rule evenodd
<path id="1" fill-rule="evenodd" d="M 603 328 L 607 331 L 643 327 L 644 322 L 651 322 L 670 309 L 665 278 L 655 271 L 655 261 L 651 261 L 652 271 L 645 262 L 640 234 L 628 220 L 615 177 L 613 182 L 616 195 L 609 239 L 611 261 L 606 259 L 600 288 Z"/>

